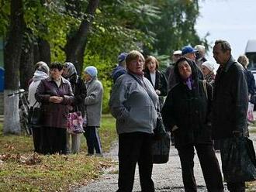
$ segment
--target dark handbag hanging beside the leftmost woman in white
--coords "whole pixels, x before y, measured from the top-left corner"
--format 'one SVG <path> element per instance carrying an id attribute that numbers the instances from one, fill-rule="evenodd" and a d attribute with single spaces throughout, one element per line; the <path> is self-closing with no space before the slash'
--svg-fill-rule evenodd
<path id="1" fill-rule="evenodd" d="M 40 127 L 41 126 L 41 109 L 35 108 L 37 101 L 33 106 L 29 108 L 28 122 L 29 126 Z"/>

